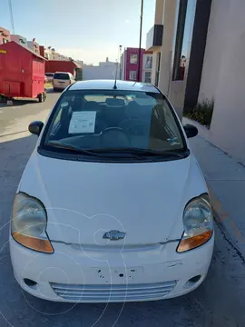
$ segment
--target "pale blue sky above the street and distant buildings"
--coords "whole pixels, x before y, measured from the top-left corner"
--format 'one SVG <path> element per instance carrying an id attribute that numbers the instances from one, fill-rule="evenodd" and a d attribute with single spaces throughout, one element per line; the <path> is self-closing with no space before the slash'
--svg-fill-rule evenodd
<path id="1" fill-rule="evenodd" d="M 154 25 L 155 1 L 144 0 L 142 47 Z M 98 64 L 118 58 L 119 45 L 139 46 L 142 0 L 12 0 L 15 34 L 56 52 Z M 0 26 L 13 33 L 9 0 L 0 0 Z"/>

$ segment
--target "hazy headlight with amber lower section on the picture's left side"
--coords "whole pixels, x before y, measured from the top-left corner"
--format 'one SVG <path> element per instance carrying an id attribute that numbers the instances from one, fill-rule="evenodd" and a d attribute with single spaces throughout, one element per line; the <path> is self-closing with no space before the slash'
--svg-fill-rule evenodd
<path id="1" fill-rule="evenodd" d="M 47 233 L 44 204 L 25 193 L 15 195 L 11 233 L 17 243 L 34 251 L 54 253 Z"/>

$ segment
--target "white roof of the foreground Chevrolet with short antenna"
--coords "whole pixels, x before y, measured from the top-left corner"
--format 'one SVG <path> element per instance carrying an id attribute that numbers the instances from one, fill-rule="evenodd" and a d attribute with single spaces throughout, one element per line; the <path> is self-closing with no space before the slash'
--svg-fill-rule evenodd
<path id="1" fill-rule="evenodd" d="M 114 80 L 88 80 L 80 81 L 72 84 L 69 90 L 113 90 L 115 84 Z M 160 94 L 160 91 L 152 84 L 144 84 L 141 82 L 129 82 L 129 81 L 116 81 L 116 89 L 123 91 L 141 91 L 152 92 Z"/>

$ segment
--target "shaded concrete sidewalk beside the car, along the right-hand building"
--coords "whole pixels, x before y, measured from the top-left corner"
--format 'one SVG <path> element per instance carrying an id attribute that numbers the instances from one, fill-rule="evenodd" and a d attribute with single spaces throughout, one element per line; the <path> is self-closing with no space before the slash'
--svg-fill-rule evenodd
<path id="1" fill-rule="evenodd" d="M 201 136 L 190 139 L 190 144 L 210 188 L 216 222 L 244 261 L 245 167 Z"/>

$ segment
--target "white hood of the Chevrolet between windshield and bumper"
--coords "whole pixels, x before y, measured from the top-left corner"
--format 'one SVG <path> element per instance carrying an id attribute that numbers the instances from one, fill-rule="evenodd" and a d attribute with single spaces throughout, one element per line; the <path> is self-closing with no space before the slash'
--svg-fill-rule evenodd
<path id="1" fill-rule="evenodd" d="M 19 191 L 44 203 L 53 242 L 134 245 L 180 239 L 186 203 L 207 187 L 192 154 L 162 163 L 91 163 L 34 151 Z M 110 231 L 125 237 L 104 239 Z"/>

